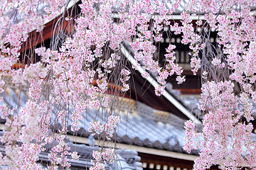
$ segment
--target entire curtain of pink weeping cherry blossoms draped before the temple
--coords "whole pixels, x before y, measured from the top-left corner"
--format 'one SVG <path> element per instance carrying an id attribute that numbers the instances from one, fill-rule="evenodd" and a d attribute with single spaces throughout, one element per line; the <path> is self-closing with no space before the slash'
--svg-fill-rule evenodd
<path id="1" fill-rule="evenodd" d="M 111 108 L 113 103 L 105 96 L 110 83 L 121 87 L 114 89 L 113 94 L 122 96 L 129 90 L 130 71 L 120 54 L 120 45 L 124 42 L 132 47 L 138 65 L 147 72 L 157 73 L 160 86 L 155 89 L 156 95 L 164 93 L 169 76 L 176 74 L 178 84 L 185 81 L 183 69 L 176 63 L 175 45 L 166 48 L 164 67 L 154 59 L 155 43 L 161 41 L 164 27 L 167 27 L 176 35 L 182 33 L 181 43 L 189 45 L 192 51 L 192 72 L 196 74 L 201 70 L 202 73 L 198 107 L 204 113 L 203 132 L 196 132 L 191 121 L 186 123 L 184 149 L 188 152 L 200 149 L 201 157 L 196 160 L 194 169 L 206 169 L 213 164 L 220 165 L 221 169 L 236 169 L 242 164 L 254 167 L 255 142 L 251 140 L 252 102 L 256 102 L 256 24 L 251 15 L 254 1 L 188 1 L 178 23 L 172 20 L 172 14 L 183 3 L 181 0 L 169 5 L 166 4 L 169 1 L 83 0 L 80 16 L 66 18 L 75 23 L 72 35 L 61 34 L 63 40 L 53 42 L 51 49 L 37 48 L 35 52 L 41 62 L 28 57 L 25 67 L 12 69 L 16 62 L 25 61 L 25 55 L 19 50 L 28 39 L 28 33 L 35 29 L 40 32 L 43 21 L 55 18 L 66 3 L 1 1 L 1 92 L 4 77 L 11 77 L 16 86 L 30 84 L 26 106 L 21 109 L 1 106 L 0 116 L 6 119 L 7 127 L 0 138 L 5 151 L 4 155 L 0 154 L 1 165 L 9 166 L 8 169 L 42 169 L 36 164 L 38 154 L 54 142 L 57 145 L 53 145 L 48 155 L 48 169 L 68 168 L 68 156 L 78 159 L 77 153 L 70 153 L 65 142 L 68 120 L 75 132 L 87 108 Z M 117 21 L 112 18 L 113 11 L 117 13 Z M 195 14 L 199 15 L 198 21 L 193 23 Z M 62 31 L 62 23 L 58 21 L 55 27 L 60 29 L 56 30 Z M 195 26 L 205 29 L 196 33 Z M 216 47 L 210 44 L 206 33 L 211 28 L 218 31 Z M 235 89 L 235 86 L 241 88 Z M 103 97 L 99 98 L 98 94 Z M 95 115 L 95 122 L 90 124 L 92 133 L 105 134 L 104 140 L 112 137 L 121 121 L 118 115 L 107 114 L 107 123 L 102 123 Z M 57 122 L 61 128 L 51 135 L 50 125 Z M 102 152 L 95 151 L 92 169 L 104 169 L 102 160 L 112 162 L 113 153 L 106 148 Z"/>

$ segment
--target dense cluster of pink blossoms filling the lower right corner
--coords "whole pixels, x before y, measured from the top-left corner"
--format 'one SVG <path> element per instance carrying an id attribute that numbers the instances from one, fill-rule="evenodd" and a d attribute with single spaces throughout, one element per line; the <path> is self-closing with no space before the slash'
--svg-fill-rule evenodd
<path id="1" fill-rule="evenodd" d="M 252 120 L 251 103 L 246 94 L 241 94 L 241 110 L 238 97 L 233 93 L 231 81 L 203 84 L 199 108 L 208 111 L 203 119 L 203 133 L 196 132 L 191 122 L 186 123 L 187 143 L 184 149 L 188 152 L 201 149 L 195 169 L 210 168 L 212 164 L 220 165 L 221 169 L 235 169 L 242 164 L 254 166 L 252 158 L 255 157 L 256 145 L 250 138 L 252 123 L 241 122 L 243 116 L 247 122 Z"/>

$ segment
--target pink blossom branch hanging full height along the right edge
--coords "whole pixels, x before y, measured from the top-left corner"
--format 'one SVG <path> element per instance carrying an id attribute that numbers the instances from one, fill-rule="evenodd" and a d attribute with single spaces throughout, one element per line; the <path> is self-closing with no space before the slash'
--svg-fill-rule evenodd
<path id="1" fill-rule="evenodd" d="M 186 123 L 184 149 L 190 152 L 200 148 L 201 157 L 196 159 L 194 169 L 207 169 L 212 164 L 220 165 L 220 169 L 238 169 L 242 164 L 255 168 L 255 142 L 251 139 L 252 102 L 255 102 L 255 67 L 252 66 L 255 17 L 250 15 L 250 8 L 255 4 L 253 1 L 220 2 L 214 6 L 205 1 L 201 4 L 201 11 L 207 13 L 207 26 L 218 31 L 221 52 L 205 42 L 207 49 L 203 50 L 201 58 L 203 85 L 198 105 L 205 114 L 204 127 L 199 134 L 193 130 L 191 121 Z M 196 59 L 192 60 L 191 67 L 194 67 Z M 235 89 L 235 85 L 241 89 Z M 192 141 L 196 141 L 196 145 L 192 145 Z"/>

